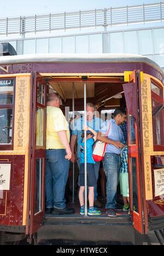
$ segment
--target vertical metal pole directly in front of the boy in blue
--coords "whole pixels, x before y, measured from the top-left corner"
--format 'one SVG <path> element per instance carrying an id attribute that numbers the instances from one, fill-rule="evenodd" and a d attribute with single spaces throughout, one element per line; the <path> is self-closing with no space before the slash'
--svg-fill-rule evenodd
<path id="1" fill-rule="evenodd" d="M 84 125 L 86 126 L 86 83 L 84 83 Z M 84 148 L 85 148 L 85 216 L 87 216 L 87 173 L 86 173 L 86 131 L 84 131 Z"/>

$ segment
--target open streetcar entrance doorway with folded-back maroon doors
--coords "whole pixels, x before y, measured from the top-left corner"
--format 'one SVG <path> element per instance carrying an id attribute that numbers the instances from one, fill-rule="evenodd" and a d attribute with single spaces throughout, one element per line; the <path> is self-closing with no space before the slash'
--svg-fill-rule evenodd
<path id="1" fill-rule="evenodd" d="M 130 214 L 124 211 L 117 211 L 117 217 L 114 222 L 130 223 L 130 218 L 136 228 L 143 234 L 143 202 L 141 201 L 141 174 L 140 174 L 140 153 L 139 153 L 139 117 L 138 117 L 138 84 L 140 73 L 133 72 L 134 75 L 130 82 L 125 83 L 124 76 L 115 77 L 43 77 L 37 72 L 33 75 L 33 120 L 31 120 L 32 135 L 32 161 L 31 161 L 31 200 L 30 200 L 30 234 L 32 235 L 40 228 L 40 223 L 44 219 L 45 222 L 76 222 L 81 219 L 79 215 L 78 200 L 78 164 L 71 163 L 69 168 L 69 177 L 66 185 L 65 198 L 68 207 L 75 209 L 72 216 L 51 216 L 44 215 L 45 211 L 45 148 L 46 148 L 46 95 L 55 91 L 61 97 L 61 105 L 63 113 L 69 121 L 69 113 L 72 117 L 80 118 L 84 113 L 85 100 L 92 102 L 97 108 L 97 115 L 105 121 L 106 118 L 112 118 L 113 110 L 117 107 L 126 107 L 127 110 L 127 146 L 128 146 L 128 170 L 129 170 L 129 191 L 130 191 Z M 84 94 L 84 86 L 86 86 L 86 94 Z M 75 114 L 75 115 L 74 115 Z M 78 117 L 79 114 L 79 117 Z M 133 135 L 132 129 L 133 126 Z M 134 138 L 132 138 L 134 136 Z M 133 141 L 133 143 L 132 143 Z M 99 208 L 102 214 L 96 217 L 96 222 L 107 223 L 110 218 L 106 214 L 105 199 L 102 200 L 105 189 L 103 166 L 99 169 L 98 178 L 98 199 L 102 203 Z M 72 188 L 71 188 L 71 184 Z M 103 184 L 103 185 L 101 185 Z M 75 190 L 76 189 L 76 190 Z M 120 195 L 120 187 L 118 186 L 118 205 L 122 206 L 122 196 Z M 71 218 L 73 217 L 73 218 Z M 51 218 L 51 220 L 50 220 Z M 84 216 L 84 219 L 91 217 Z M 95 219 L 95 217 L 93 218 Z M 95 221 L 95 220 L 94 220 Z M 113 220 L 112 220 L 113 222 Z"/>

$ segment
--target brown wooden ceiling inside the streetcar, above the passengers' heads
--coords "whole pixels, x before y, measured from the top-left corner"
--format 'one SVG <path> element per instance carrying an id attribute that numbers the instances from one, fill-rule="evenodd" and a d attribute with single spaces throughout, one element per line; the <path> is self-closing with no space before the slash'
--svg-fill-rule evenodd
<path id="1" fill-rule="evenodd" d="M 110 109 L 120 107 L 121 102 L 125 106 L 124 89 L 122 87 L 122 79 L 117 78 L 116 82 L 103 82 L 103 77 L 98 79 L 98 82 L 90 82 L 88 79 L 86 83 L 86 98 L 87 102 L 91 101 L 97 108 Z M 53 78 L 48 82 L 49 92 L 53 89 L 61 96 L 65 106 L 72 108 L 72 88 L 74 83 L 74 108 L 75 110 L 84 110 L 84 82 L 53 82 Z M 96 80 L 96 78 L 95 78 Z M 113 80 L 113 79 L 112 79 Z M 119 83 L 118 83 L 119 80 Z M 79 109 L 80 108 L 80 109 Z M 83 108 L 83 109 L 82 109 Z M 99 110 L 99 109 L 97 109 Z"/>

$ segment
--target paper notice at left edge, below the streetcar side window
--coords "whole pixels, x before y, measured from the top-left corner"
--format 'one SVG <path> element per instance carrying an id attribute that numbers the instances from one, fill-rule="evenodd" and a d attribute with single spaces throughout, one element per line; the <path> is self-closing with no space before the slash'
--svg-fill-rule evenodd
<path id="1" fill-rule="evenodd" d="M 10 189 L 11 164 L 0 164 L 0 190 Z"/>

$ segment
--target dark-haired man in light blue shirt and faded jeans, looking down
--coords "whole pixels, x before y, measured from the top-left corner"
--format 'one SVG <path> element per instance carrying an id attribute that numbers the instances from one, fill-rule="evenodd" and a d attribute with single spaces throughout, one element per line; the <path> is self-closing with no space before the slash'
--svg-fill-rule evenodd
<path id="1" fill-rule="evenodd" d="M 106 120 L 98 132 L 97 139 L 107 143 L 106 153 L 103 158 L 103 168 L 106 173 L 106 212 L 109 217 L 117 217 L 115 213 L 115 195 L 119 183 L 121 165 L 121 149 L 125 145 L 124 135 L 119 127 L 126 120 L 126 111 L 122 108 L 115 109 L 113 118 Z M 109 126 L 110 125 L 110 126 Z M 109 129 L 110 127 L 110 129 Z M 108 133 L 109 129 L 109 133 Z M 108 136 L 107 136 L 108 133 Z"/>

